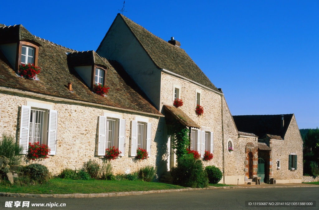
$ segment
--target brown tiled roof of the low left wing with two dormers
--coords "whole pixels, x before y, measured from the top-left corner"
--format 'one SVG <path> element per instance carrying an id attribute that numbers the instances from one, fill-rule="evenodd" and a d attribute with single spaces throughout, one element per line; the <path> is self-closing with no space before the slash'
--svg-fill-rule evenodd
<path id="1" fill-rule="evenodd" d="M 1 33 L 2 30 L 0 28 L 0 37 L 2 36 Z M 7 38 L 7 36 L 3 38 L 10 39 Z M 108 61 L 105 58 L 98 58 L 98 62 L 105 63 L 109 67 L 107 72 L 107 85 L 110 89 L 107 97 L 102 97 L 92 93 L 92 90 L 85 84 L 83 79 L 73 67 L 68 64 L 67 53 L 74 52 L 73 50 L 38 37 L 35 39 L 42 45 L 39 47 L 38 55 L 38 66 L 41 67 L 41 72 L 38 74 L 40 81 L 26 80 L 18 77 L 9 61 L 5 58 L 2 51 L 0 51 L 1 86 L 162 115 L 117 62 Z M 97 59 L 95 62 L 96 61 Z M 68 91 L 68 82 L 72 83 L 74 93 Z"/>

